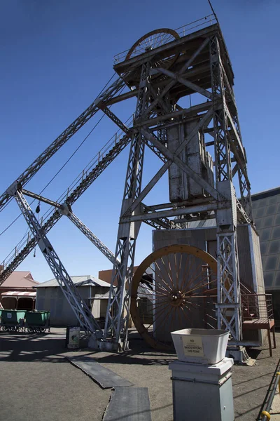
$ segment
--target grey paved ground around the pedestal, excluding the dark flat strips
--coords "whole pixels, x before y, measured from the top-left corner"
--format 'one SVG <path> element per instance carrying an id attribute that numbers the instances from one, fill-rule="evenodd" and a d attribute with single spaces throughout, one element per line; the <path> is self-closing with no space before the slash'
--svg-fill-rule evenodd
<path id="1" fill-rule="evenodd" d="M 168 369 L 174 354 L 148 349 L 132 333 L 131 351 L 109 354 L 82 349 L 75 354 L 94 357 L 106 368 L 139 387 L 148 387 L 153 421 L 172 421 L 172 381 Z M 0 335 L 0 420 L 71 421 L 102 420 L 111 391 L 102 390 L 90 377 L 71 365 L 64 355 L 65 330 L 48 335 Z M 235 419 L 255 420 L 280 357 L 278 348 L 253 350 L 253 367 L 235 366 L 233 385 Z M 82 343 L 83 345 L 83 343 Z M 71 352 L 73 354 L 73 352 Z M 203 421 L 203 420 L 201 420 Z"/>

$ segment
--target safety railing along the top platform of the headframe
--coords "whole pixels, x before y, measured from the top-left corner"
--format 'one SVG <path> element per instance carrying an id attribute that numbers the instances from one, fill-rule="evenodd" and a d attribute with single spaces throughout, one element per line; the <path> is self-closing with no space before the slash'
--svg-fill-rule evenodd
<path id="1" fill-rule="evenodd" d="M 177 32 L 177 34 L 179 34 L 182 37 L 182 36 L 186 36 L 190 34 L 190 32 L 193 32 L 193 29 L 196 29 L 196 28 L 202 29 L 209 25 L 213 25 L 214 23 L 217 23 L 217 20 L 215 18 L 215 15 L 211 14 L 211 15 L 204 16 L 204 18 L 194 20 L 193 22 L 190 22 L 179 28 L 176 28 L 175 31 Z M 153 43 L 156 44 L 157 47 L 167 44 L 170 41 L 174 41 L 174 37 L 172 35 L 162 36 L 162 34 L 159 34 L 158 36 L 155 36 L 155 35 L 153 36 Z M 117 65 L 118 63 L 125 61 L 128 51 L 130 50 L 127 49 L 125 51 L 122 51 L 121 53 L 114 55 L 114 58 L 113 58 L 114 65 Z M 141 51 L 141 53 L 142 52 L 143 51 Z"/>

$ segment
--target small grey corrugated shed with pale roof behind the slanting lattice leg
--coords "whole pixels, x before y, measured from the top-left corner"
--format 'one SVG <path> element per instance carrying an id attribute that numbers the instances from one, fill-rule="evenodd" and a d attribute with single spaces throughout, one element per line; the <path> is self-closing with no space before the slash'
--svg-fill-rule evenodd
<path id="1" fill-rule="evenodd" d="M 94 318 L 102 319 L 106 316 L 109 299 L 109 283 L 92 275 L 71 276 L 78 288 L 78 293 L 92 309 Z M 36 309 L 50 311 L 52 326 L 75 326 L 78 321 L 67 302 L 56 279 L 50 279 L 35 287 L 37 290 Z"/>

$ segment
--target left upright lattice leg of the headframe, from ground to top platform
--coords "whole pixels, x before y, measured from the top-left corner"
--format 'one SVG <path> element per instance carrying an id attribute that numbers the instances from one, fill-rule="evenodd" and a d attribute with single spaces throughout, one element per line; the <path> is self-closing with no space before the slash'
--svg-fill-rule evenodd
<path id="1" fill-rule="evenodd" d="M 148 107 L 150 63 L 146 62 L 141 69 L 141 81 L 137 98 L 135 120 L 141 118 Z M 125 192 L 123 196 L 123 214 L 130 203 L 141 192 L 145 142 L 139 131 L 134 131 L 127 165 Z M 130 316 L 130 286 L 132 281 L 134 254 L 138 228 L 134 223 L 120 224 L 113 265 L 109 306 L 106 314 L 104 340 L 111 340 L 115 349 L 127 349 L 127 329 Z M 118 264 L 120 260 L 120 264 Z M 117 288 L 114 288 L 117 286 Z M 127 288 L 126 288 L 127 286 Z"/>

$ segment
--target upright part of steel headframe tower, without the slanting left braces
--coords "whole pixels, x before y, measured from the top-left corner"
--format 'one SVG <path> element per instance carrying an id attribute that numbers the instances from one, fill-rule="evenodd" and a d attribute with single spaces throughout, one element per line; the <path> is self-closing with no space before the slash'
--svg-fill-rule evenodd
<path id="1" fill-rule="evenodd" d="M 104 331 L 107 349 L 128 347 L 130 286 L 140 224 L 171 216 L 177 217 L 175 229 L 186 220 L 216 217 L 218 328 L 230 330 L 232 343 L 241 340 L 237 223 L 251 223 L 252 208 L 234 75 L 218 23 L 195 32 L 190 29 L 183 27 L 179 33 L 158 29 L 116 57 L 114 69 L 137 95 L 137 108 Z M 186 107 L 194 93 L 196 104 Z M 105 103 L 99 107 L 106 112 Z M 116 116 L 111 118 L 117 122 Z M 206 133 L 213 140 L 205 142 Z M 146 146 L 163 165 L 142 189 Z M 207 147 L 214 149 L 214 162 Z M 170 203 L 144 210 L 142 200 L 166 171 Z M 241 201 L 235 192 L 235 175 Z"/>

